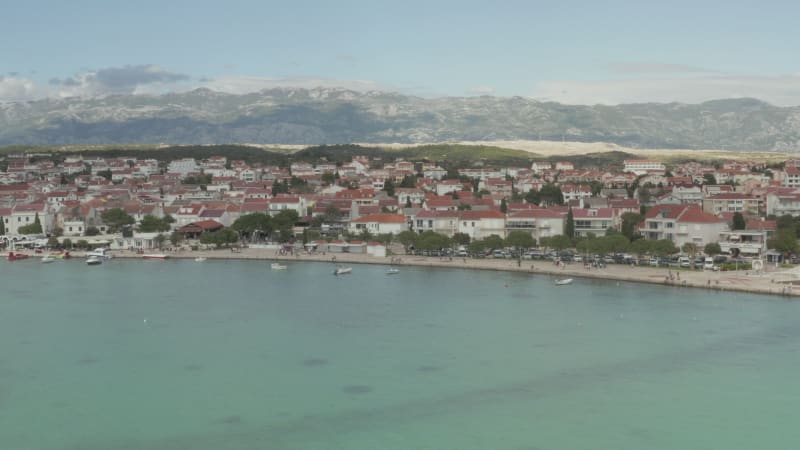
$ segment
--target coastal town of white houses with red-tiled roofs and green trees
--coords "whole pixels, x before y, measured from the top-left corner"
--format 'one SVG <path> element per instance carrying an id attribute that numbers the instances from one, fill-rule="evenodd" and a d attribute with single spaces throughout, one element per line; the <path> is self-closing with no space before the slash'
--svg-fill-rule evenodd
<path id="1" fill-rule="evenodd" d="M 0 245 L 141 253 L 270 242 L 385 256 L 394 243 L 419 256 L 518 262 L 796 262 L 800 160 L 448 167 L 366 155 L 286 166 L 54 156 L 4 158 Z"/>

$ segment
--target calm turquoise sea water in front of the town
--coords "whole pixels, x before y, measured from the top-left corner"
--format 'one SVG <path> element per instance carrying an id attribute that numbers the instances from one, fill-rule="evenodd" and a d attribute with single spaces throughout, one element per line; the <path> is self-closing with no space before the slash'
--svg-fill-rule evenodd
<path id="1" fill-rule="evenodd" d="M 268 262 L 0 262 L 0 448 L 768 449 L 800 303 Z"/>

